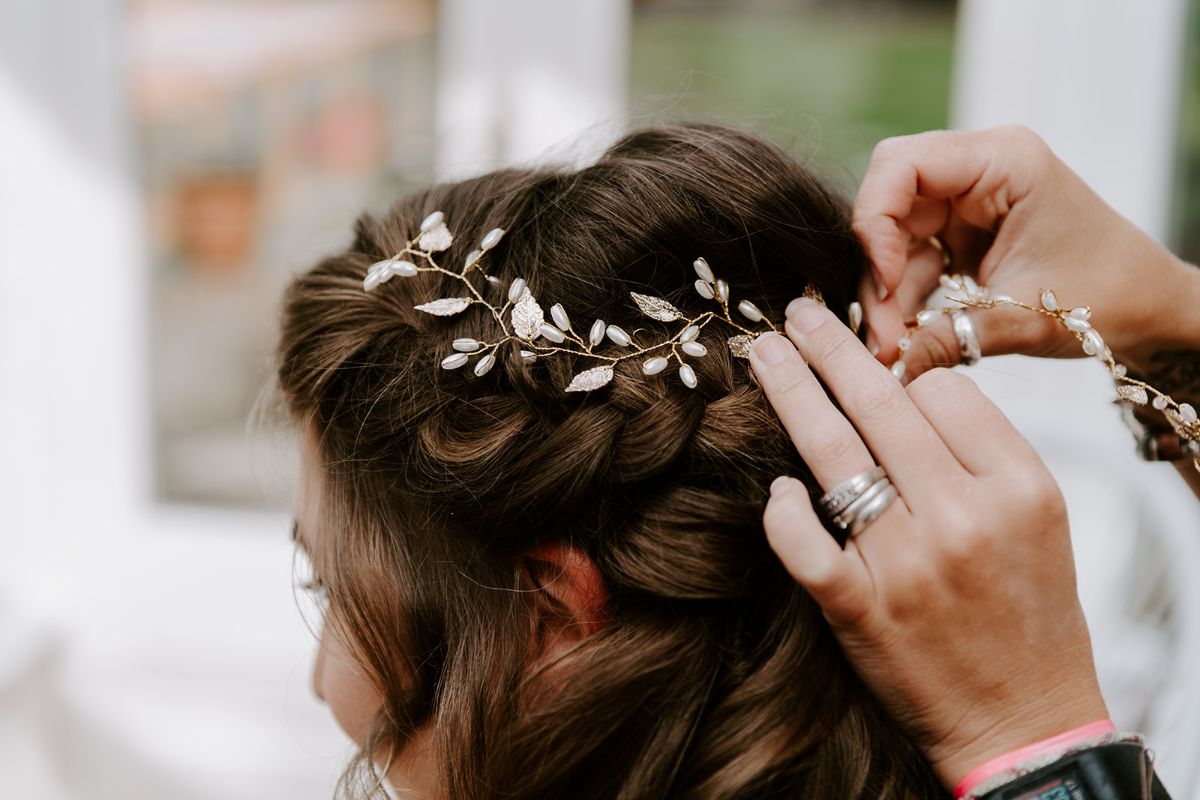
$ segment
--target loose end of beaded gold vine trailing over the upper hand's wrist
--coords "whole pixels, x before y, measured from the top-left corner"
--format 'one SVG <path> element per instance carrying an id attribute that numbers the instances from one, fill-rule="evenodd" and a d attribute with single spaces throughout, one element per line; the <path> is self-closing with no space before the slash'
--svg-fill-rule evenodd
<path id="1" fill-rule="evenodd" d="M 985 287 L 977 284 L 966 275 L 943 275 L 940 278 L 944 289 L 949 290 L 947 299 L 967 308 L 997 308 L 1000 306 L 1013 306 L 1026 311 L 1050 317 L 1058 320 L 1067 331 L 1082 345 L 1084 353 L 1094 356 L 1109 371 L 1117 384 L 1117 401 L 1130 405 L 1150 405 L 1159 411 L 1183 440 L 1200 441 L 1200 421 L 1198 421 L 1196 409 L 1190 403 L 1176 402 L 1170 395 L 1160 392 L 1150 384 L 1136 378 L 1130 378 L 1128 368 L 1123 363 L 1117 363 L 1112 357 L 1112 351 L 1104 338 L 1092 327 L 1092 309 L 1087 306 L 1063 307 L 1058 303 L 1058 297 L 1054 289 L 1042 290 L 1042 305 L 1030 306 L 1008 295 L 992 295 Z M 932 323 L 940 314 L 950 313 L 956 307 L 926 308 L 917 314 L 917 326 L 924 327 Z M 906 333 L 900 339 L 901 353 L 908 349 L 910 335 Z M 1194 452 L 1194 451 L 1193 451 Z M 1194 458 L 1193 464 L 1200 471 L 1200 458 Z"/>

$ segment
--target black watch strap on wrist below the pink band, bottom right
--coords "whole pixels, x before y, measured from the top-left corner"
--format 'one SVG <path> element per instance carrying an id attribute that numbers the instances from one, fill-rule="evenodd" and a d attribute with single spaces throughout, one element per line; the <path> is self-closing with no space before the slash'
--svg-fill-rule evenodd
<path id="1" fill-rule="evenodd" d="M 1066 756 L 980 800 L 1170 800 L 1142 745 L 1111 742 Z"/>

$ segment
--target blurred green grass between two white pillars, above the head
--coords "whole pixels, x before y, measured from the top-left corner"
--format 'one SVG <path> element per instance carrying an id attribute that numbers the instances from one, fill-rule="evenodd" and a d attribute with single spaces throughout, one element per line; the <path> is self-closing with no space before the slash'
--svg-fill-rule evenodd
<path id="1" fill-rule="evenodd" d="M 875 143 L 944 127 L 950 12 L 642 13 L 635 122 L 720 120 L 858 178 Z"/>

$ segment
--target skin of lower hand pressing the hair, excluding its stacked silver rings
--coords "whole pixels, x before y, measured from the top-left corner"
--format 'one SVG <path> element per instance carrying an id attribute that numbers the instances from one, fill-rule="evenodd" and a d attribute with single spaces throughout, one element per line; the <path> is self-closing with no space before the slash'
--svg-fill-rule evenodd
<path id="1" fill-rule="evenodd" d="M 878 463 L 899 498 L 842 549 L 781 476 L 767 536 L 943 783 L 1106 718 L 1066 506 L 1031 445 L 965 375 L 901 386 L 817 303 L 793 301 L 785 331 L 750 362 L 822 489 Z"/>

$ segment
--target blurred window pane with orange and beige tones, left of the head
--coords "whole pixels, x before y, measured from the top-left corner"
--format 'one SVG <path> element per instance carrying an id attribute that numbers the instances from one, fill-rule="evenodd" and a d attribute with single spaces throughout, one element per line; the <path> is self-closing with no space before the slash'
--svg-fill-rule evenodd
<path id="1" fill-rule="evenodd" d="M 434 18 L 434 0 L 127 6 L 161 499 L 284 503 L 292 437 L 252 420 L 280 296 L 359 212 L 428 181 Z"/>

